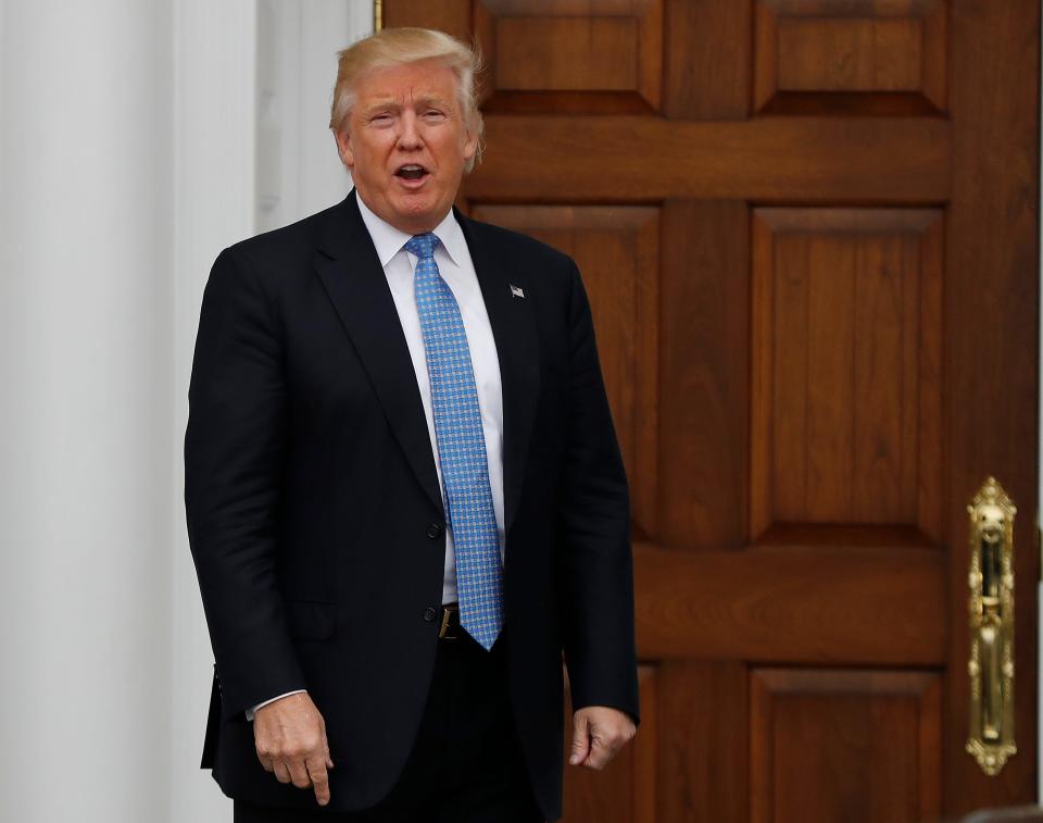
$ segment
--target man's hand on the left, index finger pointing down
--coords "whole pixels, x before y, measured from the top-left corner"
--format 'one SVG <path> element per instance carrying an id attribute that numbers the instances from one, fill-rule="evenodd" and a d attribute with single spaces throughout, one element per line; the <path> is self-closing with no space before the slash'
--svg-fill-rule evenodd
<path id="1" fill-rule="evenodd" d="M 319 806 L 329 802 L 329 775 L 334 768 L 326 741 L 326 723 L 306 691 L 275 700 L 257 709 L 253 719 L 257 758 L 279 783 L 315 787 Z"/>

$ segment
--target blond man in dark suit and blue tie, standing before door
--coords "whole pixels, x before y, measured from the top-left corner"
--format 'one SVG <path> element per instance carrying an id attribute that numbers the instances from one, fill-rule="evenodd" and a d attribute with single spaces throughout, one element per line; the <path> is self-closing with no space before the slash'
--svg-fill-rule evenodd
<path id="1" fill-rule="evenodd" d="M 638 722 L 627 484 L 570 259 L 453 209 L 474 53 L 341 52 L 355 190 L 225 249 L 185 442 L 237 821 L 541 821 Z M 319 807 L 326 807 L 319 809 Z"/>

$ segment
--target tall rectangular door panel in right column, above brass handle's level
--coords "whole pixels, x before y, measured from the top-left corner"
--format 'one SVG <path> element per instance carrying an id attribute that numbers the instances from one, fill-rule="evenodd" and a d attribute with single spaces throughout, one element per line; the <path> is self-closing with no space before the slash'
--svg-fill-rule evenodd
<path id="1" fill-rule="evenodd" d="M 752 523 L 941 533 L 942 217 L 758 209 Z"/>

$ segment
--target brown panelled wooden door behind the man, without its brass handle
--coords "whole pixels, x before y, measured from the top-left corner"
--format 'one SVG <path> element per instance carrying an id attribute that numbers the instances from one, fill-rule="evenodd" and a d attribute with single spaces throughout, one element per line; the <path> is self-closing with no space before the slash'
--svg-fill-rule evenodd
<path id="1" fill-rule="evenodd" d="M 475 38 L 470 213 L 578 261 L 644 720 L 568 821 L 1034 796 L 1036 0 L 385 0 Z M 965 752 L 968 523 L 1019 514 L 1016 738 Z"/>

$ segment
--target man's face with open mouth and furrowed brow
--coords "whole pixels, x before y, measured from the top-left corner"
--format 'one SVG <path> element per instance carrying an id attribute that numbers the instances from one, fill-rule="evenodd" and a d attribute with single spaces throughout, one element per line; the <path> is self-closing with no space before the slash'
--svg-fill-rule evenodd
<path id="1" fill-rule="evenodd" d="M 337 146 L 374 214 L 407 234 L 424 234 L 452 208 L 464 163 L 475 154 L 468 125 L 452 70 L 407 63 L 356 84 Z"/>

